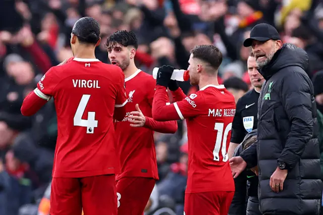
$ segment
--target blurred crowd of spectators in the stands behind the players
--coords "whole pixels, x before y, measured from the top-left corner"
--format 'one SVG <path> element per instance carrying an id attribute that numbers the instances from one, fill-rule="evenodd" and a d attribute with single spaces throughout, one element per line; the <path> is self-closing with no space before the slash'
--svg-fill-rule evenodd
<path id="1" fill-rule="evenodd" d="M 55 107 L 51 99 L 33 117 L 23 117 L 20 107 L 24 96 L 51 66 L 72 56 L 70 33 L 83 16 L 100 23 L 103 42 L 96 56 L 105 63 L 109 63 L 106 37 L 117 30 L 134 31 L 139 40 L 136 64 L 147 73 L 164 64 L 186 69 L 194 45 L 217 45 L 224 55 L 219 81 L 236 100 L 252 87 L 246 73 L 250 49 L 242 42 L 255 24 L 270 23 L 279 29 L 283 42 L 307 51 L 308 75 L 320 78 L 314 88 L 323 93 L 323 3 L 319 0 L 1 0 L 2 215 L 48 214 L 49 190 L 45 190 L 51 179 L 57 137 Z M 181 87 L 185 93 L 197 90 L 189 83 L 181 83 Z M 186 141 L 183 122 L 174 135 L 155 133 L 160 181 L 146 214 L 160 207 L 183 214 Z"/>

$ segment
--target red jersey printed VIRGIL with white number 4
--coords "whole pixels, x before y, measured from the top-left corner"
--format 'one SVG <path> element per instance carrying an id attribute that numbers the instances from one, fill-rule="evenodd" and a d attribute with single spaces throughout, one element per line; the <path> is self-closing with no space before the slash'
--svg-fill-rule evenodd
<path id="1" fill-rule="evenodd" d="M 52 67 L 34 92 L 55 100 L 58 137 L 53 177 L 81 178 L 120 172 L 113 126 L 115 107 L 127 103 L 124 74 L 97 59 Z"/>

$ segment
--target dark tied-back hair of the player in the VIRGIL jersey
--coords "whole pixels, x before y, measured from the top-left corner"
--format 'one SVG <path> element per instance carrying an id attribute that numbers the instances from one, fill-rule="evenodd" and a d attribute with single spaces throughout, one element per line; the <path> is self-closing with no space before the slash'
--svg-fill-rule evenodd
<path id="1" fill-rule="evenodd" d="M 82 17 L 74 24 L 72 33 L 81 43 L 96 44 L 100 39 L 100 25 L 92 17 Z"/>

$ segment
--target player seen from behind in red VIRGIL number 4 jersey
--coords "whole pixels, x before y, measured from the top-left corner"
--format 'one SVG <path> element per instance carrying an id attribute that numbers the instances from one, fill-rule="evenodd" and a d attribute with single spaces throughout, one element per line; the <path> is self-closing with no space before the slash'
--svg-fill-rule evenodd
<path id="1" fill-rule="evenodd" d="M 50 194 L 51 215 L 117 215 L 115 175 L 120 173 L 113 118 L 127 103 L 120 67 L 95 58 L 100 26 L 79 19 L 72 30 L 73 60 L 50 68 L 24 99 L 21 112 L 35 114 L 55 100 L 58 138 Z"/>

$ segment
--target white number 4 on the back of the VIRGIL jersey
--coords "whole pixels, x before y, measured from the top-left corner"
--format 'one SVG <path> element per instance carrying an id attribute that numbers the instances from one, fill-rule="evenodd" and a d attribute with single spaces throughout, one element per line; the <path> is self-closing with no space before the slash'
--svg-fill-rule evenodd
<path id="1" fill-rule="evenodd" d="M 74 126 L 86 127 L 87 134 L 93 134 L 94 128 L 97 127 L 97 120 L 95 120 L 95 112 L 88 112 L 87 120 L 82 119 L 87 102 L 90 99 L 90 96 L 91 95 L 87 95 L 87 94 L 82 95 L 81 101 L 74 115 Z"/>

